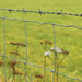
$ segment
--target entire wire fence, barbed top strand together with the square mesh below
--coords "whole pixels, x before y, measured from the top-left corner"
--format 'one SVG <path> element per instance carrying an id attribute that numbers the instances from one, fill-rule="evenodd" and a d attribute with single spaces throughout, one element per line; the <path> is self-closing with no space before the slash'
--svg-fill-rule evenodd
<path id="1" fill-rule="evenodd" d="M 44 12 L 44 11 L 42 11 L 42 10 L 39 10 L 39 11 L 30 11 L 30 10 L 12 10 L 12 9 L 0 9 L 0 10 L 4 10 L 4 11 L 10 11 L 10 12 L 12 12 L 12 11 L 16 11 L 16 12 L 23 12 L 23 13 L 25 13 L 25 12 L 33 12 L 33 13 L 39 13 L 40 15 L 42 14 L 58 14 L 58 15 L 74 15 L 74 16 L 82 16 L 82 14 L 72 14 L 72 13 L 62 13 L 62 11 L 61 12 Z M 3 58 L 3 66 L 4 66 L 4 77 L 5 77 L 5 82 L 7 82 L 7 69 L 5 69 L 5 58 L 8 58 L 8 59 L 11 59 L 11 60 L 15 60 L 15 61 L 20 61 L 20 62 L 23 62 L 24 63 L 24 66 L 25 66 L 25 68 L 24 68 L 24 70 L 25 70 L 25 82 L 28 82 L 27 81 L 27 73 L 26 73 L 26 70 L 27 70 L 27 65 L 30 65 L 30 66 L 33 66 L 33 67 L 38 67 L 38 68 L 43 68 L 43 69 L 45 69 L 45 70 L 48 70 L 48 71 L 50 71 L 50 72 L 52 72 L 52 82 L 58 82 L 58 81 L 56 81 L 55 80 L 55 73 L 57 73 L 57 74 L 61 74 L 61 75 L 63 75 L 63 77 L 66 77 L 66 78 L 69 78 L 69 79 L 72 79 L 72 80 L 78 80 L 78 81 L 82 81 L 81 79 L 75 79 L 75 78 L 71 78 L 71 77 L 68 77 L 68 75 L 66 75 L 66 74 L 63 74 L 63 73 L 60 73 L 60 72 L 57 72 L 57 70 L 56 70 L 56 60 L 57 60 L 57 54 L 55 52 L 55 70 L 51 70 L 51 69 L 48 69 L 48 68 L 45 68 L 45 67 L 43 67 L 43 66 L 38 66 L 38 65 L 34 65 L 34 63 L 28 63 L 28 61 L 27 61 L 27 59 L 28 59 L 28 56 L 27 56 L 27 22 L 31 22 L 31 23 L 38 23 L 38 24 L 40 24 L 40 25 L 44 25 L 44 24 L 49 24 L 49 25 L 51 25 L 52 27 L 54 27 L 54 47 L 56 47 L 56 35 L 55 35 L 55 33 L 56 33 L 56 31 L 55 31 L 55 28 L 56 28 L 56 26 L 61 26 L 61 27 L 75 27 L 75 28 L 79 28 L 79 30 L 82 30 L 82 27 L 79 27 L 79 26 L 75 26 L 75 25 L 60 25 L 60 24 L 56 24 L 56 23 L 40 23 L 40 22 L 37 22 L 37 21 L 27 21 L 27 20 L 19 20 L 19 19 L 8 19 L 8 17 L 2 17 L 2 16 L 0 16 L 0 19 L 2 19 L 3 20 L 3 35 L 4 35 L 4 55 L 2 55 L 2 54 L 0 54 L 0 56 Z M 20 21 L 20 22 L 24 22 L 25 23 L 25 44 L 26 44 L 26 60 L 25 61 L 22 61 L 22 60 L 17 60 L 17 59 L 14 59 L 14 58 L 12 58 L 12 57 L 9 57 L 9 56 L 7 56 L 7 54 L 5 54 L 5 51 L 7 51 L 7 49 L 5 49 L 5 20 L 10 20 L 10 21 Z M 19 67 L 20 68 L 20 67 Z M 30 79 L 30 81 L 31 82 L 33 82 L 33 80 L 28 77 L 28 79 Z M 45 81 L 44 81 L 45 82 Z"/>

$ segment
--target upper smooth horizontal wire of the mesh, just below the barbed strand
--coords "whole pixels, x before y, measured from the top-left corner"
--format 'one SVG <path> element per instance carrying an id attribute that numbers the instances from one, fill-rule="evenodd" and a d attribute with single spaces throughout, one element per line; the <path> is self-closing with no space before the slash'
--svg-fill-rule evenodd
<path id="1" fill-rule="evenodd" d="M 60 25 L 60 24 L 56 24 L 56 23 L 40 23 L 37 21 L 27 21 L 27 20 L 19 20 L 19 19 L 8 19 L 8 17 L 1 17 L 0 19 L 4 19 L 4 20 L 11 20 L 11 21 L 21 21 L 21 22 L 32 22 L 32 23 L 38 23 L 38 24 L 49 24 L 49 25 L 56 25 L 56 26 L 61 26 L 61 27 L 75 27 L 79 30 L 82 30 L 82 27 L 75 26 L 75 25 Z"/>

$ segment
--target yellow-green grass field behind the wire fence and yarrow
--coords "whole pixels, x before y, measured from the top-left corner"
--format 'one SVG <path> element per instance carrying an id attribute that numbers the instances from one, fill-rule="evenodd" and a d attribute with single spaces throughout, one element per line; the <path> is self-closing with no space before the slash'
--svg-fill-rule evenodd
<path id="1" fill-rule="evenodd" d="M 68 13 L 78 13 L 82 12 L 82 0 L 1 0 L 0 8 L 4 9 L 25 9 L 25 10 L 34 10 L 34 11 L 50 11 L 50 12 L 68 12 Z M 38 21 L 40 23 L 56 23 L 61 25 L 77 25 L 82 27 L 82 17 L 81 16 L 71 16 L 71 15 L 56 15 L 56 14 L 40 14 L 38 13 L 22 13 L 22 12 L 8 12 L 0 10 L 0 16 L 5 16 L 9 19 L 20 19 L 20 20 L 28 20 L 28 21 Z M 26 23 L 27 24 L 27 61 L 34 65 L 44 66 L 44 52 L 45 46 L 40 45 L 40 42 L 49 40 L 54 43 L 54 28 L 52 25 L 39 25 L 36 23 Z M 0 54 L 4 54 L 4 39 L 3 39 L 3 20 L 0 19 Z M 10 51 L 14 51 L 15 47 L 10 44 L 10 42 L 21 42 L 25 44 L 25 23 L 19 21 L 8 21 L 5 20 L 5 55 L 13 57 Z M 56 26 L 56 46 L 59 48 L 63 48 L 68 50 L 70 54 L 62 61 L 62 66 L 60 67 L 58 72 L 67 74 L 72 78 L 82 79 L 82 30 L 78 30 L 74 27 L 60 27 Z M 48 50 L 54 45 L 48 45 Z M 20 56 L 17 56 L 17 60 L 25 61 L 26 59 L 26 48 L 20 47 Z M 62 55 L 59 55 L 59 60 Z M 54 69 L 54 54 L 50 56 L 51 59 L 47 58 L 46 68 Z M 0 60 L 3 60 L 0 57 Z M 11 82 L 13 79 L 12 72 L 9 72 L 10 68 L 10 59 L 5 59 L 5 69 L 7 69 L 7 78 L 8 82 Z M 24 65 L 20 63 L 20 67 L 24 69 Z M 21 68 L 16 67 L 16 70 L 24 72 Z M 0 82 L 4 82 L 4 70 L 3 66 L 0 66 Z M 43 79 L 37 79 L 36 74 L 44 73 L 43 68 L 37 68 L 27 65 L 27 73 L 32 78 L 33 82 L 43 82 Z M 11 75 L 11 77 L 10 77 Z M 21 81 L 20 81 L 21 79 Z M 27 78 L 28 82 L 30 79 Z M 25 82 L 25 77 L 16 75 L 16 82 Z M 50 71 L 46 71 L 46 81 L 52 82 L 52 73 Z M 59 75 L 59 82 L 79 82 L 75 80 L 68 79 L 66 77 Z"/>

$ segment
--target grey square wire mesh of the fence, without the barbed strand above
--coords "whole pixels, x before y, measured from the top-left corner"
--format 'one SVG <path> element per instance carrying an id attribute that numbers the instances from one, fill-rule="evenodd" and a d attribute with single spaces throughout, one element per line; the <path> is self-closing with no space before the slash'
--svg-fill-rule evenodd
<path id="1" fill-rule="evenodd" d="M 46 69 L 50 72 L 52 72 L 52 82 L 55 82 L 55 73 L 57 74 L 61 74 L 63 77 L 67 77 L 69 79 L 72 79 L 72 80 L 78 80 L 78 81 L 82 81 L 80 79 L 74 79 L 74 78 L 71 78 L 71 77 L 68 77 L 63 73 L 60 73 L 60 72 L 57 72 L 56 71 L 56 59 L 55 59 L 55 70 L 50 70 L 50 69 L 47 69 L 43 66 L 38 66 L 38 65 L 34 65 L 34 63 L 28 63 L 27 62 L 27 26 L 26 26 L 26 22 L 32 22 L 32 23 L 38 23 L 40 25 L 43 24 L 49 24 L 49 25 L 52 25 L 54 27 L 54 46 L 56 47 L 56 37 L 55 37 L 55 26 L 61 26 L 61 27 L 75 27 L 75 28 L 79 28 L 79 30 L 82 30 L 82 27 L 79 27 L 79 26 L 75 26 L 75 25 L 60 25 L 60 24 L 56 24 L 56 23 L 40 23 L 40 22 L 37 22 L 37 21 L 27 21 L 27 20 L 19 20 L 19 19 L 8 19 L 8 17 L 0 17 L 0 19 L 3 19 L 3 33 L 4 33 L 4 55 L 1 55 L 1 57 L 3 57 L 3 61 L 4 61 L 4 75 L 5 75 L 5 82 L 7 82 L 7 73 L 5 73 L 5 60 L 4 58 L 9 58 L 9 59 L 13 59 L 13 60 L 16 60 L 16 61 L 20 61 L 20 62 L 23 62 L 25 65 L 25 82 L 27 82 L 27 78 L 26 78 L 26 66 L 30 65 L 30 66 L 34 66 L 34 67 L 39 67 L 39 68 L 43 68 L 43 69 Z M 22 61 L 22 60 L 17 60 L 17 59 L 14 59 L 14 58 L 11 58 L 9 56 L 5 55 L 5 24 L 4 24 L 4 20 L 10 20 L 10 21 L 20 21 L 20 22 L 25 22 L 25 42 L 26 42 L 26 61 Z M 56 54 L 55 54 L 55 58 L 56 58 Z"/>

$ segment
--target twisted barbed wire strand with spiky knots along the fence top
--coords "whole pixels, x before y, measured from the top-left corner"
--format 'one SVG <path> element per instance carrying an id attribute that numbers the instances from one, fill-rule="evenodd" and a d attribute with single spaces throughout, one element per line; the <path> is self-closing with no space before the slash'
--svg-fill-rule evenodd
<path id="1" fill-rule="evenodd" d="M 14 9 L 0 9 L 0 10 L 4 10 L 4 11 L 10 11 L 10 12 L 12 12 L 12 11 L 15 11 L 15 12 L 23 12 L 23 13 L 26 13 L 26 12 L 32 12 L 32 13 L 39 13 L 40 15 L 42 14 L 57 14 L 57 15 L 74 15 L 74 16 L 82 16 L 82 14 L 73 14 L 73 13 L 63 13 L 62 12 L 62 10 L 61 11 L 59 11 L 59 12 L 45 12 L 45 11 L 42 11 L 40 9 L 39 9 L 39 11 L 33 11 L 33 10 L 25 10 L 25 9 L 23 9 L 23 10 L 14 10 Z"/>

